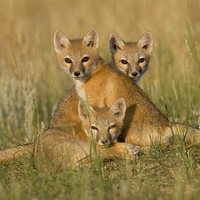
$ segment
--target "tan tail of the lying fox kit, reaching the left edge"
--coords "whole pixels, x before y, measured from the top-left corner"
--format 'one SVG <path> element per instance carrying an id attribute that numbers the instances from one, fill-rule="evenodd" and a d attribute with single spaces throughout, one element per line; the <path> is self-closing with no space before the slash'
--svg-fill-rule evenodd
<path id="1" fill-rule="evenodd" d="M 0 162 L 12 161 L 25 155 L 26 153 L 33 154 L 33 143 L 12 147 L 0 151 Z"/>

